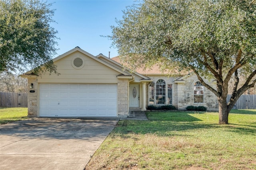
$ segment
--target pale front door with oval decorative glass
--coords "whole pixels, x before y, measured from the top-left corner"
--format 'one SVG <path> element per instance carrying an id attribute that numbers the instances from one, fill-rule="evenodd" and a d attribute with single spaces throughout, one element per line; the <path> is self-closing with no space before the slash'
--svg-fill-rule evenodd
<path id="1" fill-rule="evenodd" d="M 130 84 L 129 107 L 140 107 L 140 84 Z"/>

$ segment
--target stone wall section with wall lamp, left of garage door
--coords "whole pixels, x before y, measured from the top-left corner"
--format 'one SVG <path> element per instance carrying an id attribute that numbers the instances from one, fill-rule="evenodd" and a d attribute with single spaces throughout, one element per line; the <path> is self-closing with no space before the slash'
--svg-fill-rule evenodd
<path id="1" fill-rule="evenodd" d="M 30 88 L 30 84 L 33 83 L 33 88 Z M 30 90 L 34 90 L 34 93 L 31 93 Z M 38 83 L 36 78 L 28 78 L 28 117 L 37 117 L 37 90 Z"/>

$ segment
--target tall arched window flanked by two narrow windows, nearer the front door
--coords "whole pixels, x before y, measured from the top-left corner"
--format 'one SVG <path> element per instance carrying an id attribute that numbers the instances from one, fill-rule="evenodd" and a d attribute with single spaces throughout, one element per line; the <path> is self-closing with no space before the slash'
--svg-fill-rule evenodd
<path id="1" fill-rule="evenodd" d="M 156 82 L 156 104 L 166 104 L 166 84 L 162 79 L 157 80 Z"/>

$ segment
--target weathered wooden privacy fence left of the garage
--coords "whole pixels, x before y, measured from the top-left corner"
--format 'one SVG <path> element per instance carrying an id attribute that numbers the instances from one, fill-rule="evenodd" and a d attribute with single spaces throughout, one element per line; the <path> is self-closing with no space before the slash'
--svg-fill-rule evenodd
<path id="1" fill-rule="evenodd" d="M 28 107 L 28 94 L 0 92 L 0 107 Z"/>

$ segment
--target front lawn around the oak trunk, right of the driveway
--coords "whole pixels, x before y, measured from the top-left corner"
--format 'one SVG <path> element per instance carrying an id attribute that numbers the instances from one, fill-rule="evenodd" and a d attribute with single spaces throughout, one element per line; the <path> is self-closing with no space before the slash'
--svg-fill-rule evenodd
<path id="1" fill-rule="evenodd" d="M 148 121 L 119 121 L 86 170 L 254 170 L 256 109 L 218 113 L 147 112 Z"/>

